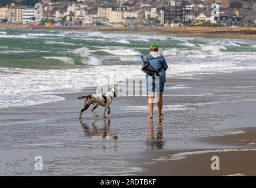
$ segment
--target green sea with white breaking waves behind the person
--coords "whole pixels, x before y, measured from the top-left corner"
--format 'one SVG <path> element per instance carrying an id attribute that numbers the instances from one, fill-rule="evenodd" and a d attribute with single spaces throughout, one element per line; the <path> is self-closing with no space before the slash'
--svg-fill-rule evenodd
<path id="1" fill-rule="evenodd" d="M 255 42 L 132 33 L 1 29 L 0 108 L 64 100 L 115 81 L 144 78 L 141 55 L 158 43 L 168 63 L 167 76 L 256 69 Z"/>

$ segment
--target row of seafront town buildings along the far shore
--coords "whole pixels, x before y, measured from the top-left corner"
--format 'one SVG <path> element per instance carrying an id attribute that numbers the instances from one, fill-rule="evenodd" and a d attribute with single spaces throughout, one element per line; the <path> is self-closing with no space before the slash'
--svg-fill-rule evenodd
<path id="1" fill-rule="evenodd" d="M 39 6 L 0 7 L 0 23 L 45 26 L 248 26 L 256 24 L 256 2 L 239 0 L 38 0 Z M 212 4 L 219 14 L 212 15 Z M 39 19 L 40 18 L 40 19 Z"/>

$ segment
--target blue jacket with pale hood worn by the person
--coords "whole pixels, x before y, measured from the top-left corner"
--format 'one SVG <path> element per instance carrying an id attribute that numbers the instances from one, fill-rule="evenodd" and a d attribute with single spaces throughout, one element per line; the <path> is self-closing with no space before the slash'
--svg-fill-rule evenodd
<path id="1" fill-rule="evenodd" d="M 159 52 L 150 52 L 144 61 L 149 62 L 150 65 L 158 72 L 160 83 L 166 82 L 165 71 L 168 69 L 167 62 L 162 56 L 162 53 Z M 145 63 L 142 61 L 142 67 L 145 66 Z M 148 74 L 146 73 L 147 79 Z"/>

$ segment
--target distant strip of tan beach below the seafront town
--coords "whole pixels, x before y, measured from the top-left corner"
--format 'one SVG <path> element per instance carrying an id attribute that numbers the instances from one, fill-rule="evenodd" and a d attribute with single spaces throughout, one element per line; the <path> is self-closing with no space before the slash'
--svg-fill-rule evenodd
<path id="1" fill-rule="evenodd" d="M 168 36 L 188 36 L 203 38 L 239 38 L 239 39 L 256 39 L 256 27 L 141 27 L 135 28 L 134 31 L 124 27 L 112 26 L 73 26 L 73 27 L 31 27 L 15 26 L 4 27 L 4 29 L 32 29 L 42 31 L 77 31 L 77 32 L 115 32 L 115 33 L 134 33 L 134 34 L 161 34 Z"/>

